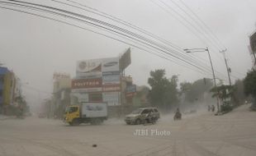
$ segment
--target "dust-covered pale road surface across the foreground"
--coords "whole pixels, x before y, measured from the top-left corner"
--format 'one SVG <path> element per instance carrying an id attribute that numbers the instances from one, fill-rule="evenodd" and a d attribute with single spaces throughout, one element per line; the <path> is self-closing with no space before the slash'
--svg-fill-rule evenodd
<path id="1" fill-rule="evenodd" d="M 206 112 L 178 122 L 162 117 L 147 126 L 127 126 L 114 119 L 101 126 L 68 126 L 36 117 L 8 119 L 0 121 L 0 155 L 255 156 L 256 112 L 244 105 L 224 116 Z"/>

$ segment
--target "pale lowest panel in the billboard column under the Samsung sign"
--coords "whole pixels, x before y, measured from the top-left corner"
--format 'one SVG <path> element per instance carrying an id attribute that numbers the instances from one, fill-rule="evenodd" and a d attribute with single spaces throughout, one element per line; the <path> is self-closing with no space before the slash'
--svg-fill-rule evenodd
<path id="1" fill-rule="evenodd" d="M 120 105 L 120 92 L 105 92 L 102 93 L 103 102 L 108 106 Z"/>

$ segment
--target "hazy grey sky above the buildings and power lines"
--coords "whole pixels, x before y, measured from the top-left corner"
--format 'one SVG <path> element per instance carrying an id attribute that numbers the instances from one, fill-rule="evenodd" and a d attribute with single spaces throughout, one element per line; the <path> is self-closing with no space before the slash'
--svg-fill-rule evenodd
<path id="1" fill-rule="evenodd" d="M 247 47 L 249 34 L 256 30 L 256 1 L 254 0 L 75 1 L 128 21 L 181 48 L 206 48 L 208 46 L 214 68 L 222 73 L 217 76 L 227 81 L 225 63 L 221 53 L 210 41 L 198 39 L 197 36 L 202 36 L 202 34 L 197 31 L 192 33 L 192 26 L 186 22 L 186 19 L 187 21 L 191 19 L 175 5 L 176 3 L 185 8 L 182 3 L 184 2 L 227 48 L 226 56 L 232 69 L 233 82 L 237 78 L 243 78 L 252 66 Z M 64 7 L 57 2 L 46 0 L 27 2 L 60 7 L 111 22 L 86 11 Z M 66 1 L 62 0 L 62 2 Z M 165 10 L 163 2 L 169 6 L 165 6 Z M 170 10 L 170 7 L 173 10 Z M 77 21 L 69 20 L 69 22 L 78 24 Z M 113 24 L 116 25 L 116 23 Z M 97 30 L 88 25 L 83 25 L 83 27 Z M 201 29 L 197 25 L 196 27 Z M 104 33 L 102 30 L 97 31 Z M 44 92 L 36 92 L 35 89 L 51 93 L 52 77 L 55 71 L 70 73 L 74 76 L 78 60 L 116 57 L 129 47 L 127 44 L 70 25 L 0 8 L 0 62 L 12 69 L 21 79 L 24 84 L 24 94 L 30 103 L 38 103 L 37 99 L 50 96 Z M 187 53 L 187 55 L 197 57 L 205 63 L 205 66 L 210 66 L 206 53 Z M 211 78 L 211 74 L 204 75 L 192 71 L 190 68 L 182 67 L 134 47 L 131 47 L 131 59 L 132 63 L 130 67 L 127 67 L 126 75 L 132 76 L 136 85 L 147 85 L 149 71 L 162 68 L 166 70 L 168 77 L 179 75 L 180 82 L 184 80 L 192 82 L 202 77 Z"/>

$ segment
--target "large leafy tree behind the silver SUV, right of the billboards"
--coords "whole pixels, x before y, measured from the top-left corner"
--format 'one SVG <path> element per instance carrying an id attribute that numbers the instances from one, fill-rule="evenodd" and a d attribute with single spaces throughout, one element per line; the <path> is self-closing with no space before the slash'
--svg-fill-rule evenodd
<path id="1" fill-rule="evenodd" d="M 165 77 L 165 70 L 150 71 L 148 83 L 149 102 L 159 108 L 171 108 L 178 103 L 178 76 L 173 76 L 170 80 Z"/>

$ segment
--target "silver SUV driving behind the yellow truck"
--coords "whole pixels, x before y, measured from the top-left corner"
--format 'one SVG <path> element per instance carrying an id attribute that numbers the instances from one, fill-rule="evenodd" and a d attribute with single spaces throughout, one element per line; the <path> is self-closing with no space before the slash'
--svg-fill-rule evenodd
<path id="1" fill-rule="evenodd" d="M 157 108 L 139 108 L 127 115 L 125 122 L 127 125 L 140 125 L 141 123 L 154 124 L 158 121 L 159 117 L 160 113 Z"/>

